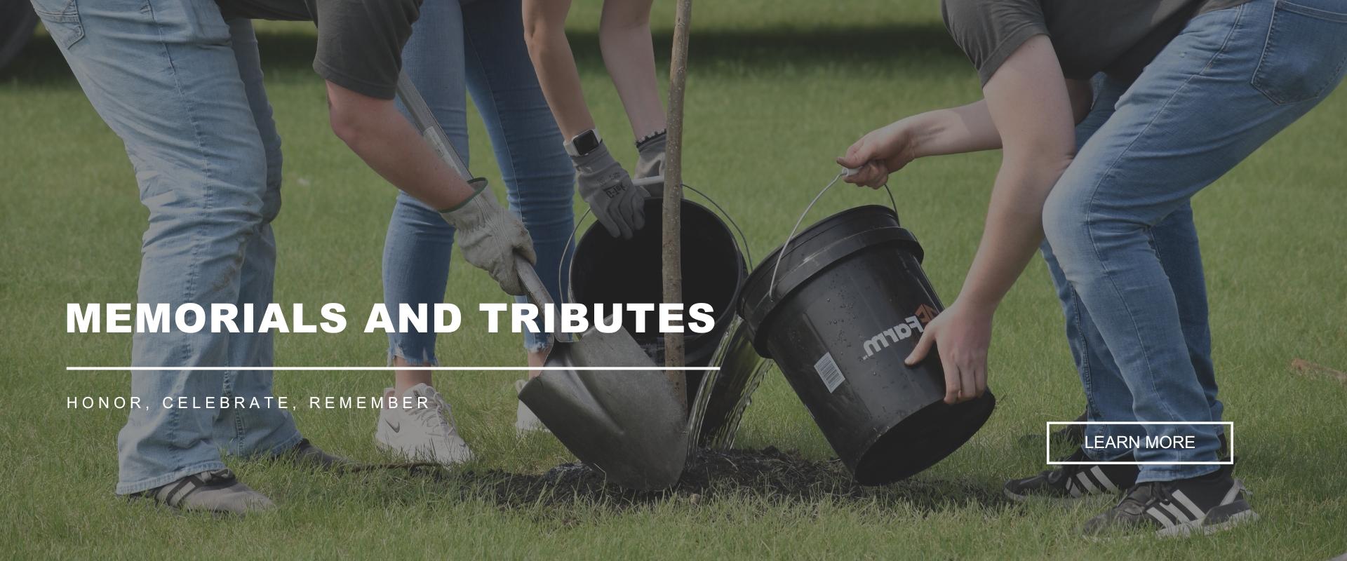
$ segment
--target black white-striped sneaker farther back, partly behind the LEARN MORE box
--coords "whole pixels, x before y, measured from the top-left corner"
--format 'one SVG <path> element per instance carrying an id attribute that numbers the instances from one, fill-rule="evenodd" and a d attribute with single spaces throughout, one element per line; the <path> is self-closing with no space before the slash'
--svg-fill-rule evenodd
<path id="1" fill-rule="evenodd" d="M 1084 449 L 1063 461 L 1091 461 Z M 1131 455 L 1115 461 L 1131 461 Z M 1086 495 L 1115 494 L 1137 483 L 1137 465 L 1114 464 L 1067 464 L 1048 470 L 1032 478 L 1012 479 L 1005 484 L 1005 495 L 1013 500 L 1029 496 L 1075 499 Z"/>

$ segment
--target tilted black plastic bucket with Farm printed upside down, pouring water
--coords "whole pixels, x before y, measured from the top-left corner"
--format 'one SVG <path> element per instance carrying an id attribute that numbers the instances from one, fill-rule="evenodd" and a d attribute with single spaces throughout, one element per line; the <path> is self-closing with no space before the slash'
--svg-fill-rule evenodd
<path id="1" fill-rule="evenodd" d="M 862 484 L 933 465 L 991 416 L 991 391 L 944 401 L 932 350 L 902 363 L 944 307 L 921 270 L 921 245 L 882 206 L 834 214 L 753 270 L 740 313 L 753 346 L 775 359 L 828 444 Z"/>

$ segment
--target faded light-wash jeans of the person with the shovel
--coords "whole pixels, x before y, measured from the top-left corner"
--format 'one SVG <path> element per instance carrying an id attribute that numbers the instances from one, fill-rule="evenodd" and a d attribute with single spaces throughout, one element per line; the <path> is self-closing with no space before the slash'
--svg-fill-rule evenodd
<path id="1" fill-rule="evenodd" d="M 127 148 L 150 210 L 136 300 L 265 307 L 280 210 L 280 137 L 248 20 L 213 0 L 32 0 L 102 120 Z M 136 335 L 133 366 L 269 366 L 257 334 Z M 119 494 L 218 470 L 221 449 L 299 443 L 283 409 L 163 408 L 164 398 L 271 396 L 269 371 L 143 371 L 117 437 Z"/>

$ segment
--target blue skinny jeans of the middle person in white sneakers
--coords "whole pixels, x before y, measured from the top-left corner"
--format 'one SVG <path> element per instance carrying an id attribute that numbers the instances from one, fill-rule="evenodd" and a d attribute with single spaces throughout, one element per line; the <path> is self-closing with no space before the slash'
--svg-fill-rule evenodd
<path id="1" fill-rule="evenodd" d="M 466 82 L 486 122 L 509 207 L 533 239 L 535 269 L 559 301 L 566 287 L 556 272 L 570 258 L 575 171 L 528 58 L 520 1 L 426 0 L 403 47 L 403 69 L 465 161 Z M 443 301 L 453 248 L 454 229 L 439 213 L 405 194 L 397 196 L 384 242 L 384 303 L 393 322 L 399 322 L 399 304 L 415 308 Z M 391 334 L 388 339 L 389 361 L 400 357 L 411 366 L 436 365 L 434 332 Z M 527 350 L 547 343 L 546 334 L 524 335 Z"/>

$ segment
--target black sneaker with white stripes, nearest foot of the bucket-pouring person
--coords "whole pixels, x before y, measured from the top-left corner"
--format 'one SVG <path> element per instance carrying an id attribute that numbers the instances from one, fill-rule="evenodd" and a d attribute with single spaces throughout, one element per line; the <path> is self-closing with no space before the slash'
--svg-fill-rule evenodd
<path id="1" fill-rule="evenodd" d="M 1160 537 L 1211 534 L 1258 519 L 1231 467 L 1177 482 L 1138 483 L 1106 513 L 1086 522 L 1087 537 L 1150 531 Z"/>

